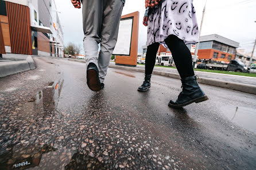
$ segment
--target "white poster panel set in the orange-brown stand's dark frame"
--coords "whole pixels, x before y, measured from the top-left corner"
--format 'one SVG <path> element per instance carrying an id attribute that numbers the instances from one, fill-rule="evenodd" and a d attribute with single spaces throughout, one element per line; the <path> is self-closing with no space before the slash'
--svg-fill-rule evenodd
<path id="1" fill-rule="evenodd" d="M 119 24 L 117 45 L 115 45 L 113 55 L 130 56 L 132 31 L 133 17 L 121 19 Z"/>

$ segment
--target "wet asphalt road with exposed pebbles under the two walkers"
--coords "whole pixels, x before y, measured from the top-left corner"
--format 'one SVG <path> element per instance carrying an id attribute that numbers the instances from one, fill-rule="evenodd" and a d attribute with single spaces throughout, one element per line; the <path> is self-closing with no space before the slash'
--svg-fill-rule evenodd
<path id="1" fill-rule="evenodd" d="M 201 85 L 210 100 L 168 107 L 181 83 L 108 69 L 92 92 L 80 62 L 34 57 L 0 78 L 0 169 L 256 169 L 256 95 Z"/>

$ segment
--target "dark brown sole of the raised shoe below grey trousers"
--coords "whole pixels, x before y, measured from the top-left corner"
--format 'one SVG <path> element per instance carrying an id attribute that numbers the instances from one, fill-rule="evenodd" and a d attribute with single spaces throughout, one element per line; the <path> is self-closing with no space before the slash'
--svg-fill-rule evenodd
<path id="1" fill-rule="evenodd" d="M 91 69 L 87 71 L 87 85 L 94 92 L 98 92 L 101 89 L 96 70 Z"/>

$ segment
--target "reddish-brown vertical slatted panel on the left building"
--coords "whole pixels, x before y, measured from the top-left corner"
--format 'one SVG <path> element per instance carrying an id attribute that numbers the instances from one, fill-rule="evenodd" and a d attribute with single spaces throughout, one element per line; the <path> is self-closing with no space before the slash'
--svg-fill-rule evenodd
<path id="1" fill-rule="evenodd" d="M 32 55 L 29 7 L 6 1 L 9 18 L 11 53 Z"/>

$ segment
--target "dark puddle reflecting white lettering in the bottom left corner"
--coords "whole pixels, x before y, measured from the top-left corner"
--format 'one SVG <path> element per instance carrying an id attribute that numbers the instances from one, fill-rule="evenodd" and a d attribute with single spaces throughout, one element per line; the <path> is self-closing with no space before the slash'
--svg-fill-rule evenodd
<path id="1" fill-rule="evenodd" d="M 0 169 L 68 169 L 65 167 L 71 163 L 75 153 L 71 149 L 56 149 L 49 145 L 16 145 L 7 149 L 7 152 L 0 155 Z"/>

